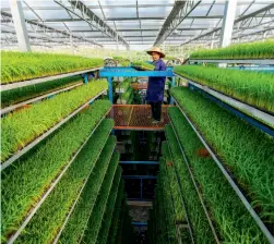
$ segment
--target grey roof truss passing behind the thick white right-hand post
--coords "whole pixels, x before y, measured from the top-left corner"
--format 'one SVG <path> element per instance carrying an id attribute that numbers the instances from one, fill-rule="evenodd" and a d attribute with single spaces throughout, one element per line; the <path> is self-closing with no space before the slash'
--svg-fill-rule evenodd
<path id="1" fill-rule="evenodd" d="M 264 7 L 264 8 L 260 9 L 260 10 L 257 10 L 257 11 L 250 13 L 250 14 L 247 14 L 247 15 L 243 15 L 243 16 L 240 16 L 240 17 L 236 19 L 234 24 L 240 23 L 242 21 L 247 21 L 249 19 L 257 17 L 258 14 L 267 12 L 269 10 L 271 10 L 273 8 L 274 8 L 274 3 L 271 3 L 271 4 Z M 192 42 L 193 40 L 200 39 L 200 38 L 202 38 L 204 36 L 211 35 L 211 34 L 213 34 L 215 32 L 218 32 L 221 29 L 222 29 L 222 27 L 216 27 L 216 28 L 213 28 L 213 29 L 209 29 L 207 32 L 205 32 L 205 33 L 203 33 L 201 35 L 194 36 L 193 38 L 190 38 L 189 40 L 182 42 L 181 46 L 186 45 L 186 44 L 189 44 L 189 42 Z"/>

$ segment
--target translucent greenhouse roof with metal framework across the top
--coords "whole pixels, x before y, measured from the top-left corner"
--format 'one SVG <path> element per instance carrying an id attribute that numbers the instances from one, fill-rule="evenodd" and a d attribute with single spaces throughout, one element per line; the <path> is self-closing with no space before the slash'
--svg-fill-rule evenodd
<path id="1" fill-rule="evenodd" d="M 218 42 L 224 0 L 23 0 L 31 41 L 151 47 Z M 2 46 L 16 45 L 8 0 L 1 0 Z M 233 41 L 274 36 L 273 0 L 238 0 Z"/>

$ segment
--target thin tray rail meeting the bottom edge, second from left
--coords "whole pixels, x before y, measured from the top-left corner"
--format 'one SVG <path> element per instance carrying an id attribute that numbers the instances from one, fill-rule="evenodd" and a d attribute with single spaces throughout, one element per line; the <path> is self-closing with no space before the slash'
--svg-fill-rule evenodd
<path id="1" fill-rule="evenodd" d="M 109 131 L 109 133 L 110 133 L 110 131 Z M 108 138 L 108 137 L 107 137 L 107 138 Z M 105 141 L 105 144 L 106 144 L 106 142 L 107 142 L 107 138 L 106 138 L 106 141 Z M 97 162 L 98 158 L 100 157 L 102 151 L 103 151 L 103 148 L 100 149 L 100 151 L 99 151 L 99 154 L 98 154 L 98 156 L 97 156 L 95 162 Z M 112 151 L 112 154 L 111 154 L 111 157 L 112 157 L 112 155 L 114 155 L 114 151 Z M 111 157 L 109 157 L 109 161 L 111 160 Z M 81 187 L 81 190 L 80 190 L 80 192 L 79 192 L 76 198 L 74 199 L 74 203 L 73 203 L 73 205 L 71 206 L 70 211 L 69 211 L 69 213 L 67 215 L 67 217 L 65 217 L 65 219 L 64 219 L 64 221 L 63 221 L 63 224 L 62 224 L 62 227 L 60 228 L 58 234 L 56 235 L 55 241 L 52 242 L 52 244 L 57 244 L 57 243 L 58 243 L 58 241 L 59 241 L 59 239 L 60 239 L 60 236 L 61 236 L 61 234 L 62 234 L 62 231 L 63 231 L 63 229 L 65 228 L 65 224 L 67 224 L 67 222 L 69 221 L 69 219 L 70 219 L 70 217 L 71 217 L 71 213 L 73 212 L 73 210 L 74 210 L 76 204 L 79 203 L 80 196 L 81 196 L 81 194 L 82 194 L 82 192 L 83 192 L 83 190 L 84 190 L 84 187 L 85 187 L 85 185 L 86 185 L 86 183 L 87 183 L 90 176 L 92 175 L 92 172 L 93 172 L 94 167 L 95 167 L 95 164 L 93 166 L 93 168 L 91 169 L 88 175 L 86 176 L 85 182 L 84 182 L 84 184 L 82 185 L 82 187 Z"/>

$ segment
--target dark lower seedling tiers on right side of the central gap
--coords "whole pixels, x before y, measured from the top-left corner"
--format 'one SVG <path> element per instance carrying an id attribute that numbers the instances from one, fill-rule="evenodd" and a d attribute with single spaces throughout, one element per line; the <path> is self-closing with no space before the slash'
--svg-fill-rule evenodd
<path id="1" fill-rule="evenodd" d="M 182 191 L 167 142 L 163 142 L 162 151 L 155 199 L 148 220 L 150 243 L 191 243 Z"/>

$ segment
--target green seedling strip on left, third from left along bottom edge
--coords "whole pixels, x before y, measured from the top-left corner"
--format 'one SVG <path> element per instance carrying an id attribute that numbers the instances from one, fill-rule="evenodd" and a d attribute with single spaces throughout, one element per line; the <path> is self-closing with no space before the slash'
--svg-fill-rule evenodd
<path id="1" fill-rule="evenodd" d="M 104 152 L 104 151 L 103 151 Z M 104 155 L 104 154 L 102 154 Z M 78 243 L 85 231 L 88 217 L 93 211 L 104 179 L 111 176 L 116 168 L 111 168 L 105 157 L 100 157 L 88 179 L 80 202 L 75 206 L 61 236 L 60 243 Z M 108 172 L 110 170 L 110 172 Z M 108 173 L 107 173 L 108 172 Z"/>

